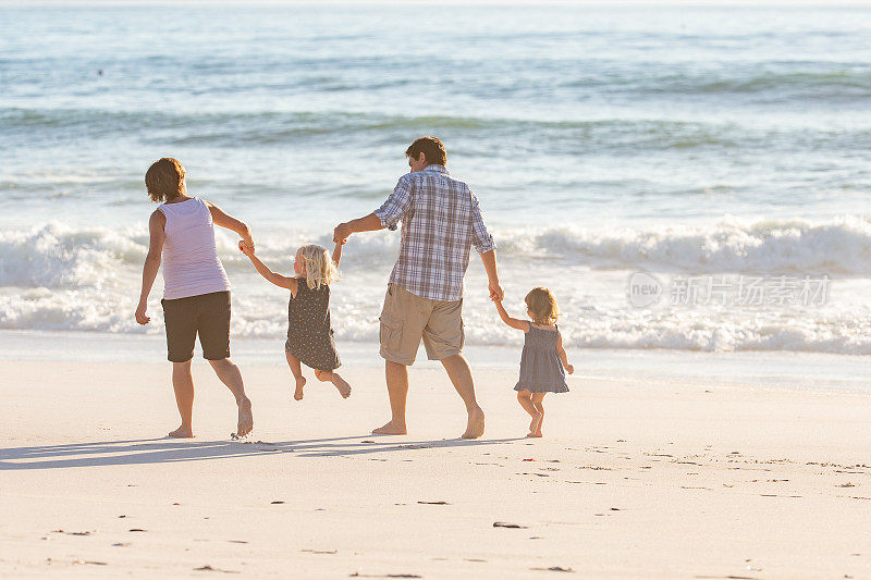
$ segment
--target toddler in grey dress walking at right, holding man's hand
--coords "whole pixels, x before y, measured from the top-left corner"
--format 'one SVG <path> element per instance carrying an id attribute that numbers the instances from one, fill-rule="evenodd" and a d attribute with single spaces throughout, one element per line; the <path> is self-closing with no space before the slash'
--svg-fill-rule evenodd
<path id="1" fill-rule="evenodd" d="M 505 324 L 526 334 L 520 356 L 520 380 L 514 390 L 517 391 L 520 406 L 532 417 L 526 436 L 540 437 L 541 423 L 544 421 L 544 395 L 568 393 L 565 373 L 575 372 L 575 368 L 568 363 L 563 337 L 556 326 L 560 316 L 556 297 L 548 288 L 532 288 L 525 298 L 530 320 L 511 318 L 502 301 L 494 301 Z"/>

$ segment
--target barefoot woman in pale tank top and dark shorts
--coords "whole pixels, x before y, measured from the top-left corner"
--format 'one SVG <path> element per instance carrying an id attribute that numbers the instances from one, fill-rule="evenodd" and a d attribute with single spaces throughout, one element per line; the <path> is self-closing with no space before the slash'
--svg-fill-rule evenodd
<path id="1" fill-rule="evenodd" d="M 218 258 L 214 225 L 236 232 L 242 243 L 254 248 L 245 223 L 228 215 L 213 203 L 186 195 L 184 166 L 175 159 L 156 161 L 145 174 L 152 201 L 164 201 L 148 221 L 150 243 L 143 267 L 143 288 L 136 322 L 151 320 L 148 295 L 163 263 L 163 321 L 167 326 L 168 358 L 172 362 L 172 386 L 182 424 L 169 435 L 193 437 L 194 379 L 191 361 L 197 335 L 206 358 L 218 378 L 236 398 L 236 434 L 254 428 L 252 403 L 245 395 L 242 373 L 230 360 L 230 282 Z"/>

